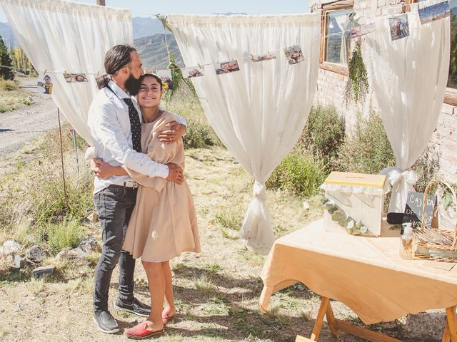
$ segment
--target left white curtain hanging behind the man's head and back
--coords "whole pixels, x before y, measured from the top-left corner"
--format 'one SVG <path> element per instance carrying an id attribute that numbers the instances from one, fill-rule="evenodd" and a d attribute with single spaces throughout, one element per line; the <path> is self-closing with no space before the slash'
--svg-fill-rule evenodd
<path id="1" fill-rule="evenodd" d="M 49 73 L 56 105 L 87 142 L 87 111 L 104 73 L 106 51 L 134 42 L 131 11 L 62 0 L 0 0 L 19 45 L 39 73 Z M 62 73 L 86 73 L 89 82 L 66 83 Z M 41 76 L 42 77 L 42 76 Z"/>

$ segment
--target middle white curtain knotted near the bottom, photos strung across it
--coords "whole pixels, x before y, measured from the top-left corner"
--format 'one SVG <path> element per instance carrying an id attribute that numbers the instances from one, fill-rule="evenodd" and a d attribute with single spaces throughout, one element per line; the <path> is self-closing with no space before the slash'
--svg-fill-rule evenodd
<path id="1" fill-rule="evenodd" d="M 167 16 L 206 117 L 224 145 L 256 180 L 241 237 L 261 253 L 274 242 L 265 182 L 303 130 L 316 90 L 320 15 Z M 305 61 L 289 65 L 283 49 L 299 45 Z M 276 52 L 253 63 L 251 54 Z M 240 71 L 216 75 L 217 61 L 238 60 Z"/>

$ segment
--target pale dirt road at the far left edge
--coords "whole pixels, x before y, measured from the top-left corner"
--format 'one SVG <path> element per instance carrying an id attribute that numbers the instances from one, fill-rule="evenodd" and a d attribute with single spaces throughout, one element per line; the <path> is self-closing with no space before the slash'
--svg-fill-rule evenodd
<path id="1" fill-rule="evenodd" d="M 49 95 L 35 93 L 36 80 L 21 83 L 34 100 L 25 108 L 0 113 L 0 174 L 16 164 L 22 145 L 58 125 L 57 107 Z M 21 157 L 19 157 L 21 159 Z"/>

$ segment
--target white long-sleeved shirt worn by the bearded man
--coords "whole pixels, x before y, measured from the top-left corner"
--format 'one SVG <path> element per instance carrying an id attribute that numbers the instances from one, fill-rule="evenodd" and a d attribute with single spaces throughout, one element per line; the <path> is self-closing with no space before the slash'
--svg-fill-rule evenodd
<path id="1" fill-rule="evenodd" d="M 94 153 L 112 166 L 126 165 L 132 170 L 149 177 L 166 178 L 169 168 L 147 155 L 136 152 L 131 140 L 129 108 L 124 98 L 131 98 L 142 122 L 141 112 L 135 98 L 109 81 L 108 88 L 102 88 L 95 96 L 89 108 L 87 123 L 94 141 Z M 186 125 L 186 120 L 179 117 L 178 123 Z M 94 194 L 111 184 L 123 185 L 131 180 L 129 176 L 114 176 L 106 180 L 95 177 Z"/>

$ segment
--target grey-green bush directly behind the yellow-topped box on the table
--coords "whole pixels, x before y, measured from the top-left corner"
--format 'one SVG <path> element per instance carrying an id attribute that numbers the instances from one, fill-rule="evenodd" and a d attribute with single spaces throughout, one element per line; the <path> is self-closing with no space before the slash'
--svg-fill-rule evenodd
<path id="1" fill-rule="evenodd" d="M 343 171 L 371 174 L 395 165 L 391 143 L 378 113 L 371 110 L 366 118 L 357 115 L 356 126 L 341 147 L 339 165 Z"/>

